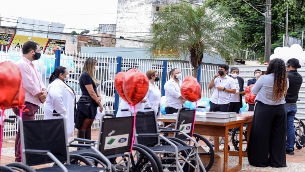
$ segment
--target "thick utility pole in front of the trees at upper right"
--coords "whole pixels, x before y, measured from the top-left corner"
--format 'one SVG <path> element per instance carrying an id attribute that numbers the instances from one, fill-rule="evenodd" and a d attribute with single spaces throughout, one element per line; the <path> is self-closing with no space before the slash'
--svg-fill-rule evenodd
<path id="1" fill-rule="evenodd" d="M 266 0 L 265 27 L 265 62 L 269 62 L 271 55 L 271 0 Z"/>

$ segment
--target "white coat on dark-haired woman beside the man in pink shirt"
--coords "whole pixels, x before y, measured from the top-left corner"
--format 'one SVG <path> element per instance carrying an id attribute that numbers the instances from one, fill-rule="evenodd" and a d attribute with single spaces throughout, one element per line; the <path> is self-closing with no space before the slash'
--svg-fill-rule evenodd
<path id="1" fill-rule="evenodd" d="M 53 116 L 53 110 L 57 113 L 64 114 L 67 122 L 68 137 L 74 137 L 74 100 L 76 93 L 60 79 L 56 78 L 48 85 L 47 100 L 44 106 L 44 119 L 56 119 Z"/>

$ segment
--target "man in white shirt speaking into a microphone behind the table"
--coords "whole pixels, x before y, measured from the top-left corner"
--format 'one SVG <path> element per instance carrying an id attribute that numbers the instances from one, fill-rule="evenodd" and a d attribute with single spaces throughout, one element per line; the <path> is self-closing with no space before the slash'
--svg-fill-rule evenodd
<path id="1" fill-rule="evenodd" d="M 228 112 L 230 106 L 230 94 L 236 93 L 234 79 L 227 75 L 229 66 L 218 66 L 218 72 L 208 83 L 208 89 L 214 89 L 210 98 L 210 112 Z"/>

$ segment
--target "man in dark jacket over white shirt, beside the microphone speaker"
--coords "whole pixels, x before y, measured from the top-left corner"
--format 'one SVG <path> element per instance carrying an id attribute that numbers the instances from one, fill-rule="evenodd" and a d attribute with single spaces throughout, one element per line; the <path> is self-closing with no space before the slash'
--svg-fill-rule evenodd
<path id="1" fill-rule="evenodd" d="M 236 84 L 236 94 L 230 95 L 230 106 L 229 112 L 236 112 L 239 113 L 240 108 L 242 107 L 242 96 L 245 95 L 245 90 L 243 90 L 243 79 L 239 77 L 239 68 L 238 67 L 231 67 L 230 71 L 231 77 L 234 79 Z M 243 93 L 238 93 L 243 92 Z"/>

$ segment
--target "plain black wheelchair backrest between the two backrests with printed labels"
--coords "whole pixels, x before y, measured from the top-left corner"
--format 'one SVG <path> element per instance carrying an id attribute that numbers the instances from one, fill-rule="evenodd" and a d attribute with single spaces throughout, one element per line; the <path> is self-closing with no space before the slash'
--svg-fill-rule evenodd
<path id="1" fill-rule="evenodd" d="M 154 111 L 137 112 L 136 134 L 157 134 L 157 118 Z M 151 146 L 159 143 L 158 137 L 136 137 L 136 143 Z"/>

